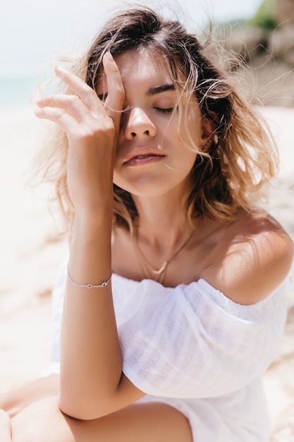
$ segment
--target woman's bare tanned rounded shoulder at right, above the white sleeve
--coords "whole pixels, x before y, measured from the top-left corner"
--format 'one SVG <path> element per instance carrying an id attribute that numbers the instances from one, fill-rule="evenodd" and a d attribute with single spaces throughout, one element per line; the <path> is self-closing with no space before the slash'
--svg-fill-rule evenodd
<path id="1" fill-rule="evenodd" d="M 293 241 L 267 213 L 243 215 L 231 223 L 202 272 L 209 284 L 239 304 L 255 304 L 286 278 Z"/>

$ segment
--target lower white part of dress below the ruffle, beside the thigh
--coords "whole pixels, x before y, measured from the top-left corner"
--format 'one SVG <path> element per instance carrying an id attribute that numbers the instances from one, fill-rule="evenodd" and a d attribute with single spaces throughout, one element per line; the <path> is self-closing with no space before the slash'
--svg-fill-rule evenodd
<path id="1" fill-rule="evenodd" d="M 269 441 L 269 417 L 260 378 L 219 398 L 174 399 L 147 395 L 138 402 L 161 402 L 182 412 L 190 422 L 193 442 Z"/>

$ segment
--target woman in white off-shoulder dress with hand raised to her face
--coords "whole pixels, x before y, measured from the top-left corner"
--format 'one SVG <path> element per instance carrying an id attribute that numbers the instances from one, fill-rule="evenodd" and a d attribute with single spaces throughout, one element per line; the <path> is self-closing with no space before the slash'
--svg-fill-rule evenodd
<path id="1" fill-rule="evenodd" d="M 293 258 L 257 203 L 269 131 L 195 36 L 147 8 L 56 76 L 67 93 L 36 114 L 64 134 L 47 162 L 71 231 L 60 393 L 4 423 L 5 442 L 267 441 L 259 378 Z"/>

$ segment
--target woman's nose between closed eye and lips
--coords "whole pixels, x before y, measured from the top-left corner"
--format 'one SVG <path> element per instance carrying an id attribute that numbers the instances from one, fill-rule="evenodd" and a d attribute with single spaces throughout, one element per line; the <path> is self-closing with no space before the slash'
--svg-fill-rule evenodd
<path id="1" fill-rule="evenodd" d="M 156 127 L 147 113 L 140 107 L 128 109 L 122 116 L 122 131 L 125 138 L 132 140 L 136 136 L 156 135 Z"/>

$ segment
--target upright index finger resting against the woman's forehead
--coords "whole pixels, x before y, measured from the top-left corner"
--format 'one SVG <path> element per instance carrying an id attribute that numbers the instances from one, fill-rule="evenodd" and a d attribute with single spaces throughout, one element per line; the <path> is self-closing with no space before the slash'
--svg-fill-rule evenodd
<path id="1" fill-rule="evenodd" d="M 106 52 L 103 57 L 103 67 L 106 74 L 108 90 L 108 95 L 105 100 L 105 109 L 118 130 L 121 112 L 123 110 L 123 102 L 125 100 L 125 90 L 123 88 L 121 73 L 110 52 Z"/>

